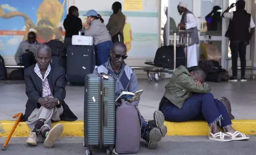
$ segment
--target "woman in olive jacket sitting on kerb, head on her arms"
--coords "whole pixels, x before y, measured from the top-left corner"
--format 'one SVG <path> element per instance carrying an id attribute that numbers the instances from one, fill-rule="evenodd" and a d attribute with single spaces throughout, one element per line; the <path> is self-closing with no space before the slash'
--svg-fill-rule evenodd
<path id="1" fill-rule="evenodd" d="M 171 122 L 205 119 L 210 128 L 210 140 L 230 142 L 249 139 L 245 134 L 232 128 L 224 104 L 209 93 L 211 88 L 204 81 L 212 67 L 213 63 L 210 60 L 204 60 L 199 66 L 186 68 L 181 65 L 176 68 L 165 86 L 159 110 L 163 112 L 165 120 Z M 217 125 L 225 133 L 222 133 Z"/>

